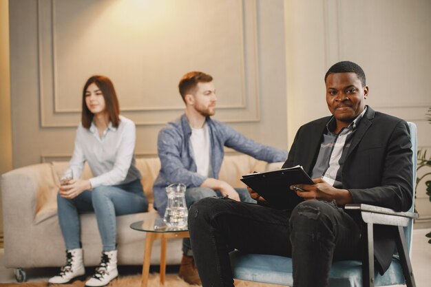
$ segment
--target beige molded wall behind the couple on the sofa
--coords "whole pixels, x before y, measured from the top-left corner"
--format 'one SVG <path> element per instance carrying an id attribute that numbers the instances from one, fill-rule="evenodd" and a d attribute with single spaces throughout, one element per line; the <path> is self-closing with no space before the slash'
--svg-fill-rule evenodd
<path id="1" fill-rule="evenodd" d="M 92 74 L 112 78 L 138 156 L 156 154 L 159 129 L 182 114 L 190 70 L 214 76 L 215 118 L 287 149 L 283 1 L 178 3 L 10 1 L 14 167 L 70 156 Z"/>

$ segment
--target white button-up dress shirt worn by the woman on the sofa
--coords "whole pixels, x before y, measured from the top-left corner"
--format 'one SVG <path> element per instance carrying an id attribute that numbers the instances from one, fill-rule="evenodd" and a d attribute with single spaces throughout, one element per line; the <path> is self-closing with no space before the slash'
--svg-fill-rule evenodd
<path id="1" fill-rule="evenodd" d="M 90 129 L 82 124 L 78 126 L 75 147 L 69 169 L 73 178 L 81 178 L 85 161 L 90 165 L 94 178 L 90 178 L 92 187 L 116 185 L 142 178 L 136 168 L 134 151 L 136 128 L 132 120 L 120 116 L 118 127 L 109 125 L 100 137 L 96 125 Z"/>

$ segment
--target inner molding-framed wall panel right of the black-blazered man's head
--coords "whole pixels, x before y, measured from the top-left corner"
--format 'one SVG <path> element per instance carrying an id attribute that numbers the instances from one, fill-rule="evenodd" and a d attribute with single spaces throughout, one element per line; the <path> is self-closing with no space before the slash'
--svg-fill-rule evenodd
<path id="1" fill-rule="evenodd" d="M 429 92 L 422 88 L 429 81 L 425 71 L 431 60 L 431 38 L 423 30 L 431 25 L 429 1 L 334 1 L 339 9 L 339 60 L 364 68 L 371 107 L 423 120 L 423 109 L 431 107 Z M 354 17 L 353 11 L 361 12 Z"/>

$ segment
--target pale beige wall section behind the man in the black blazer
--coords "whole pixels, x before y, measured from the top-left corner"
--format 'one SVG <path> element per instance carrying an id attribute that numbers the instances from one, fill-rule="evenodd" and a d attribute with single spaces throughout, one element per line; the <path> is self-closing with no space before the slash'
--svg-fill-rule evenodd
<path id="1" fill-rule="evenodd" d="M 324 74 L 333 63 L 358 63 L 368 105 L 417 124 L 419 149 L 431 148 L 431 1 L 286 0 L 288 142 L 298 127 L 328 115 Z M 417 210 L 431 218 L 425 184 Z"/>

